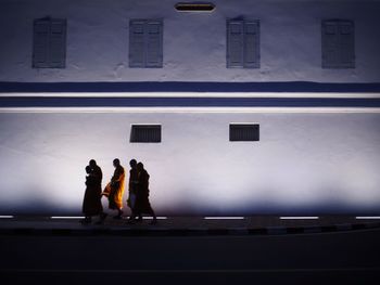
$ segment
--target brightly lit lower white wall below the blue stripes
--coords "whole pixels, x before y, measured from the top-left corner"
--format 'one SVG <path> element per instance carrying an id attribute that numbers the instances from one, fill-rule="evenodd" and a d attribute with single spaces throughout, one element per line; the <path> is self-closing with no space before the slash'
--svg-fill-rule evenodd
<path id="1" fill-rule="evenodd" d="M 214 109 L 215 111 L 215 109 Z M 379 113 L 197 113 L 149 109 L 0 114 L 2 213 L 78 213 L 94 158 L 144 163 L 160 215 L 364 213 L 380 207 Z M 229 142 L 230 122 L 261 125 Z M 131 124 L 161 124 L 162 143 L 129 143 Z M 126 197 L 125 197 L 126 199 Z"/>

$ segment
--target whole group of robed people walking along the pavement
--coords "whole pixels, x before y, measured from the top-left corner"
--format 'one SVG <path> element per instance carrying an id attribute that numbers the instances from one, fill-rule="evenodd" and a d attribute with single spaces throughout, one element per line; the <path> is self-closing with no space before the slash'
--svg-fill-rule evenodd
<path id="1" fill-rule="evenodd" d="M 97 165 L 94 159 L 89 161 L 86 167 L 86 192 L 83 204 L 83 212 L 85 219 L 81 223 L 91 223 L 93 216 L 99 216 L 97 222 L 101 224 L 104 222 L 107 213 L 103 211 L 101 198 L 107 197 L 109 208 L 117 210 L 114 219 L 122 219 L 123 216 L 123 196 L 125 190 L 125 170 L 121 165 L 121 160 L 115 158 L 113 160 L 115 168 L 111 181 L 102 191 L 103 173 L 101 168 Z M 128 223 L 141 222 L 142 215 L 148 213 L 153 217 L 152 224 L 157 222 L 154 210 L 149 202 L 149 173 L 143 167 L 142 163 L 137 163 L 136 159 L 129 161 L 129 183 L 128 183 L 128 199 L 127 205 L 131 210 Z"/>

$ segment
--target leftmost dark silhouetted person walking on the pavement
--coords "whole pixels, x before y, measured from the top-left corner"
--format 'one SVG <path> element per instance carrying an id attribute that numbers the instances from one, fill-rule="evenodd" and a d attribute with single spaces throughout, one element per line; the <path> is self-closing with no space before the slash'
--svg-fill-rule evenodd
<path id="1" fill-rule="evenodd" d="M 90 223 L 92 216 L 102 216 L 103 212 L 101 203 L 102 189 L 101 179 L 99 182 L 99 173 L 93 171 L 90 166 L 86 167 L 86 192 L 83 204 L 85 219 L 81 221 L 81 223 Z"/>

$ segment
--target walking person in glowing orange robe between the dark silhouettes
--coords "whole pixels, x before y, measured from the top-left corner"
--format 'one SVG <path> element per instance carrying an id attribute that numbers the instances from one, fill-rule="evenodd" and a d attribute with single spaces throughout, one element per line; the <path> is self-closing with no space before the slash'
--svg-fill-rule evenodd
<path id="1" fill-rule="evenodd" d="M 125 171 L 118 158 L 113 160 L 113 166 L 115 167 L 114 174 L 111 178 L 111 182 L 105 186 L 102 195 L 109 197 L 109 208 L 117 210 L 117 216 L 115 216 L 114 219 L 122 219 Z"/>

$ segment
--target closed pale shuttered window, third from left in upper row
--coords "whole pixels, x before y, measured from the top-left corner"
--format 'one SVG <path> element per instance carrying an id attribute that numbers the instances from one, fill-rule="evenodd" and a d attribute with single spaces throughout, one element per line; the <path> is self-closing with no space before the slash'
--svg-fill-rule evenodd
<path id="1" fill-rule="evenodd" d="M 227 21 L 227 67 L 259 68 L 259 21 Z"/>

